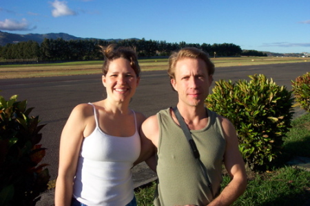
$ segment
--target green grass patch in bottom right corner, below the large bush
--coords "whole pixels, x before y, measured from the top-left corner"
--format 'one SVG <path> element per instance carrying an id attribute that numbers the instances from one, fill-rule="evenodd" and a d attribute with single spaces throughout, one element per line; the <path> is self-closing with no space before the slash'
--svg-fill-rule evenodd
<path id="1" fill-rule="evenodd" d="M 233 205 L 302 205 L 309 198 L 309 181 L 310 172 L 285 166 L 257 175 Z"/>

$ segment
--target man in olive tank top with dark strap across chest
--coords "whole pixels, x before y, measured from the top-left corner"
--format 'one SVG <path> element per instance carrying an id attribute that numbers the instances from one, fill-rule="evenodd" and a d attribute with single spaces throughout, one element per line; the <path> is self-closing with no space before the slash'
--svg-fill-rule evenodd
<path id="1" fill-rule="evenodd" d="M 234 126 L 205 108 L 214 64 L 205 52 L 184 48 L 170 56 L 168 74 L 178 92 L 178 111 L 196 142 L 207 178 L 192 155 L 174 110 L 160 111 L 141 126 L 142 154 L 148 157 L 152 144 L 157 149 L 154 205 L 230 205 L 245 192 L 247 176 Z M 154 169 L 151 159 L 147 163 Z M 220 192 L 222 163 L 231 181 Z"/>

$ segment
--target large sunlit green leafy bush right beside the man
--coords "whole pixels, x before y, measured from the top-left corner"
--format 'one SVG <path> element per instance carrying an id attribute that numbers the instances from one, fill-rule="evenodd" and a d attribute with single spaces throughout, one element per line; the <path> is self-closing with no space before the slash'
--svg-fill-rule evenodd
<path id="1" fill-rule="evenodd" d="M 227 117 L 236 127 L 239 150 L 251 170 L 265 170 L 278 156 L 282 138 L 291 128 L 291 91 L 264 75 L 251 80 L 220 80 L 205 100 L 212 111 Z"/>

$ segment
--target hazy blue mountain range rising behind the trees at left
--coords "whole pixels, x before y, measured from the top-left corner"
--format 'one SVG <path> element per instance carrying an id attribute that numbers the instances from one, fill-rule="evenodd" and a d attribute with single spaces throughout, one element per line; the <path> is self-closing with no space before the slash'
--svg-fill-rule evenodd
<path id="1" fill-rule="evenodd" d="M 56 39 L 56 38 L 63 38 L 65 41 L 70 40 L 86 40 L 86 39 L 95 39 L 95 38 L 81 38 L 72 36 L 70 34 L 65 33 L 48 33 L 48 34 L 11 34 L 8 32 L 1 32 L 0 31 L 0 45 L 4 46 L 8 43 L 19 43 L 21 41 L 36 41 L 37 43 L 41 44 L 44 38 Z M 137 39 L 137 38 L 135 38 Z M 121 41 L 122 39 L 101 39 L 104 41 Z"/>

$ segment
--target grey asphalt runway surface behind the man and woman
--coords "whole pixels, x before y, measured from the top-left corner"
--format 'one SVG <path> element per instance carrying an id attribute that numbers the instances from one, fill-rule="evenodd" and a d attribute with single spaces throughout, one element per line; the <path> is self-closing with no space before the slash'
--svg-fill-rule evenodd
<path id="1" fill-rule="evenodd" d="M 1 69 L 1 68 L 0 68 Z M 258 65 L 243 67 L 218 67 L 214 80 L 249 80 L 249 75 L 262 73 L 278 85 L 291 89 L 291 80 L 310 71 L 310 62 Z M 214 84 L 213 84 L 214 85 Z M 59 159 L 59 137 L 61 130 L 76 104 L 95 102 L 105 97 L 101 75 L 61 76 L 49 78 L 23 78 L 0 80 L 0 95 L 6 100 L 19 95 L 18 100 L 28 100 L 34 107 L 32 115 L 39 115 L 41 124 L 47 124 L 41 132 L 41 144 L 48 148 L 43 159 L 49 163 L 51 180 L 56 179 Z M 211 89 L 210 89 L 211 92 Z M 169 84 L 166 71 L 143 72 L 141 82 L 130 107 L 147 117 L 157 111 L 174 106 L 177 95 Z"/>

